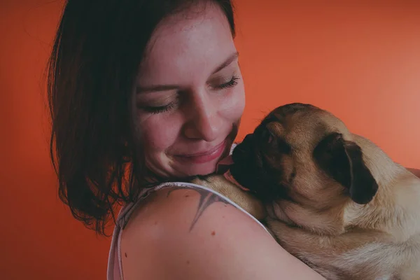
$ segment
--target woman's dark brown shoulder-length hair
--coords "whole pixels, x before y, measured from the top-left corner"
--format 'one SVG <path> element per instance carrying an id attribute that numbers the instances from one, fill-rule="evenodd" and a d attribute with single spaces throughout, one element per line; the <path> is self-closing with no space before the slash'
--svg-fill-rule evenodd
<path id="1" fill-rule="evenodd" d="M 199 1 L 65 3 L 48 63 L 50 155 L 60 199 L 100 234 L 117 204 L 140 190 L 130 97 L 146 44 L 163 18 Z M 235 36 L 231 1 L 207 1 L 221 7 Z"/>

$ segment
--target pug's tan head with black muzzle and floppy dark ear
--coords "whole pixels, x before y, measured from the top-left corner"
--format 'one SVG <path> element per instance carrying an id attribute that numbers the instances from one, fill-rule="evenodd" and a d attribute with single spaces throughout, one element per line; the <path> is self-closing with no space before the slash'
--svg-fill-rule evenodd
<path id="1" fill-rule="evenodd" d="M 344 123 L 309 104 L 274 109 L 232 159 L 232 176 L 263 202 L 314 209 L 348 200 L 366 204 L 378 188 Z"/>

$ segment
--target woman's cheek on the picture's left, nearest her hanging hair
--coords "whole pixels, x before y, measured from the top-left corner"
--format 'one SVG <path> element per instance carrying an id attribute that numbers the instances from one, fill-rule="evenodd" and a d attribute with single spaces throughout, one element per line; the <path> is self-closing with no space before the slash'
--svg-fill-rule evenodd
<path id="1" fill-rule="evenodd" d="M 169 118 L 150 116 L 140 120 L 137 126 L 137 134 L 146 153 L 165 152 L 174 144 L 180 130 L 181 122 L 175 115 Z"/>

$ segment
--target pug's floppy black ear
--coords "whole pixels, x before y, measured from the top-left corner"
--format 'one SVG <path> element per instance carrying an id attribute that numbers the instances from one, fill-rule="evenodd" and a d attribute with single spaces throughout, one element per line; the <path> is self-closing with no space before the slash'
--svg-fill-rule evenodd
<path id="1" fill-rule="evenodd" d="M 345 141 L 342 134 L 332 133 L 314 149 L 314 159 L 332 179 L 349 190 L 351 200 L 367 204 L 377 193 L 378 184 L 363 161 L 361 148 Z"/>

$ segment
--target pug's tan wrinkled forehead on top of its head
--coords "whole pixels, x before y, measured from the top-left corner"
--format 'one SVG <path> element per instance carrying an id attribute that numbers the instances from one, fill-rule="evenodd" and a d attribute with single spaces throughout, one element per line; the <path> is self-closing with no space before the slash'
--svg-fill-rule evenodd
<path id="1" fill-rule="evenodd" d="M 323 137 L 332 132 L 349 137 L 349 131 L 339 118 L 314 106 L 279 107 L 262 121 L 272 134 L 291 146 L 314 148 Z"/>

